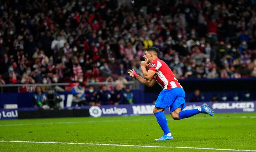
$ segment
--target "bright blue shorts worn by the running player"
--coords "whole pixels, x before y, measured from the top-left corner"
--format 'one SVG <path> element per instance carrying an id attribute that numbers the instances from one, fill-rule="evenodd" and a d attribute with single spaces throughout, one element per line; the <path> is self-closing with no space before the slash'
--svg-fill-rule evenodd
<path id="1" fill-rule="evenodd" d="M 186 107 L 184 90 L 179 87 L 162 90 L 157 97 L 155 106 L 164 109 L 170 107 L 170 112 L 177 108 L 183 110 Z"/>

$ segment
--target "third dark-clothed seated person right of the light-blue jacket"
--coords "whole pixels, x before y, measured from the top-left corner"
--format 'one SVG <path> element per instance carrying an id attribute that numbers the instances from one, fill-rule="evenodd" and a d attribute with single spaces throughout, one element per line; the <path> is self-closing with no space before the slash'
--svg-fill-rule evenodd
<path id="1" fill-rule="evenodd" d="M 115 89 L 111 92 L 112 97 L 112 103 L 114 105 L 119 105 L 120 103 L 123 103 L 123 90 L 121 84 L 116 84 Z"/>

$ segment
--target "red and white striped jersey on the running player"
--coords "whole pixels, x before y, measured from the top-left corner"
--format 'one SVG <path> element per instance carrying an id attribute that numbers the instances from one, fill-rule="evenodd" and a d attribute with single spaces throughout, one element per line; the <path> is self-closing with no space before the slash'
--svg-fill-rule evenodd
<path id="1" fill-rule="evenodd" d="M 152 79 L 156 79 L 157 83 L 163 88 L 163 89 L 172 89 L 182 86 L 178 82 L 178 80 L 175 78 L 174 74 L 172 73 L 172 70 L 164 61 L 160 59 L 155 59 L 151 62 L 149 70 L 153 70 L 156 72 Z"/>

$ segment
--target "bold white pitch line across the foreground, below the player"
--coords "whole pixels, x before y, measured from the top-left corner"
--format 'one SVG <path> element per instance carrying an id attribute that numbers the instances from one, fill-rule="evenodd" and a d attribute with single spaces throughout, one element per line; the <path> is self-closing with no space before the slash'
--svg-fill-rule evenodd
<path id="1" fill-rule="evenodd" d="M 169 146 L 141 146 L 141 145 L 120 145 L 120 144 L 93 144 L 79 142 L 47 142 L 47 141 L 0 141 L 0 142 L 23 142 L 23 143 L 42 143 L 42 144 L 78 144 L 78 145 L 97 145 L 97 146 L 123 146 L 123 147 L 149 147 L 149 148 L 181 148 L 181 149 L 205 149 L 205 150 L 227 150 L 227 151 L 245 151 L 256 152 L 256 150 L 245 149 L 219 149 L 219 148 L 200 148 L 200 147 L 169 147 Z"/>

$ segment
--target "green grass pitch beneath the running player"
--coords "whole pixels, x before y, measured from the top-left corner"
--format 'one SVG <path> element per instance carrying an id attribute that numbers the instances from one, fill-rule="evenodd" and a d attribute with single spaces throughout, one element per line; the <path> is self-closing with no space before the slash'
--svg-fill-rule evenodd
<path id="1" fill-rule="evenodd" d="M 1 120 L 0 152 L 227 152 L 233 149 L 256 151 L 256 113 L 215 114 L 214 117 L 198 114 L 183 120 L 172 120 L 169 115 L 167 120 L 173 141 L 154 141 L 163 133 L 153 114 L 134 117 Z M 160 147 L 35 143 L 38 141 Z"/>

